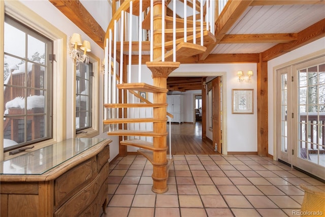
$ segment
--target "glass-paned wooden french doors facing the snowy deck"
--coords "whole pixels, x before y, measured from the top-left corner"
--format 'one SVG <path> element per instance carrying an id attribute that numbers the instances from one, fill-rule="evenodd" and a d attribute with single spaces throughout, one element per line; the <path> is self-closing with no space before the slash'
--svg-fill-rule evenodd
<path id="1" fill-rule="evenodd" d="M 325 57 L 277 70 L 277 157 L 325 179 Z"/>

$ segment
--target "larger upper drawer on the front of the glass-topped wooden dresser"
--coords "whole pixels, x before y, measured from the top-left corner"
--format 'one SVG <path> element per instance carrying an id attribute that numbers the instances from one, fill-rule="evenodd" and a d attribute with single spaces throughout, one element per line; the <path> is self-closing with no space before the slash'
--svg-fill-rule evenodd
<path id="1" fill-rule="evenodd" d="M 54 205 L 57 206 L 67 201 L 96 174 L 96 156 L 63 173 L 54 181 Z"/>

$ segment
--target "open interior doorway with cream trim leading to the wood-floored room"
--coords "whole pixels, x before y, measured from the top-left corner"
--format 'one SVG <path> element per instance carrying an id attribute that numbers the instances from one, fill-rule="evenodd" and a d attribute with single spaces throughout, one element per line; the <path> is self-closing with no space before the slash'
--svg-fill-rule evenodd
<path id="1" fill-rule="evenodd" d="M 226 73 L 224 72 L 219 72 L 219 73 L 185 73 L 185 72 L 177 72 L 177 74 L 175 73 L 175 75 L 173 73 L 171 73 L 171 77 L 173 76 L 184 76 L 184 77 L 210 77 L 210 80 L 212 80 L 215 77 L 220 77 L 222 80 L 225 79 L 226 77 Z M 173 154 L 200 154 L 202 153 L 202 148 L 201 150 L 198 150 L 197 147 L 192 147 L 191 148 L 191 152 L 186 152 L 186 150 L 184 150 L 184 148 L 180 148 L 181 145 L 187 145 L 187 146 L 191 146 L 190 144 L 198 144 L 198 142 L 200 142 L 201 145 L 207 145 L 208 146 L 208 151 L 210 151 L 210 153 L 208 154 L 216 154 L 218 153 L 217 151 L 215 151 L 215 147 L 213 145 L 213 131 L 212 129 L 209 130 L 209 123 L 211 121 L 209 121 L 209 113 L 208 113 L 208 109 L 207 106 L 209 106 L 209 104 L 207 104 L 207 100 L 208 100 L 208 91 L 207 91 L 207 85 L 206 82 L 204 80 L 204 82 L 201 83 L 202 86 L 202 92 L 201 94 L 196 93 L 193 94 L 192 96 L 192 108 L 191 108 L 191 114 L 190 116 L 192 117 L 192 122 L 187 122 L 187 119 L 184 118 L 184 123 L 181 123 L 180 125 L 178 125 L 178 123 L 173 123 L 172 124 L 172 153 Z M 221 89 L 225 88 L 225 86 L 221 86 Z M 201 99 L 200 99 L 201 98 Z M 205 99 L 204 99 L 205 98 Z M 226 91 L 221 91 L 221 96 L 220 99 L 222 99 L 223 101 L 226 100 Z M 202 104 L 201 104 L 202 103 Z M 200 115 L 200 105 L 201 109 L 202 109 L 202 113 Z M 222 105 L 221 110 L 222 111 L 226 111 L 225 109 L 225 105 Z M 186 104 L 184 106 L 186 109 L 190 109 Z M 197 108 L 198 107 L 198 108 Z M 199 111 L 197 110 L 199 109 Z M 204 114 L 205 113 L 205 114 Z M 198 116 L 198 118 L 197 118 Z M 226 126 L 226 112 L 222 112 L 220 114 L 220 119 L 222 119 L 223 121 L 221 122 L 221 126 L 220 129 L 224 129 L 224 126 Z M 201 117 L 201 118 L 200 118 Z M 190 128 L 188 125 L 191 125 L 192 127 L 192 132 L 190 135 L 188 135 L 188 131 Z M 177 129 L 176 129 L 177 128 Z M 201 130 L 202 134 L 198 134 L 197 131 L 198 129 Z M 182 135 L 178 134 L 177 132 L 183 132 Z M 185 135 L 186 134 L 186 135 Z M 226 134 L 225 130 L 220 131 L 220 138 L 225 138 L 224 135 Z M 198 137 L 199 135 L 199 137 Z M 196 137 L 196 138 L 185 138 L 186 136 L 192 136 L 192 137 Z M 178 138 L 175 138 L 178 137 Z M 180 142 L 180 141 L 183 142 Z M 183 144 L 182 144 L 183 143 Z M 174 147 L 173 147 L 174 146 Z M 220 144 L 220 151 L 219 153 L 223 153 L 226 154 L 227 153 L 227 148 L 226 148 L 226 138 L 222 140 L 222 144 Z M 222 147 L 222 151 L 221 151 L 221 147 Z M 178 151 L 180 150 L 180 151 Z M 184 153 L 184 151 L 186 153 Z M 203 151 L 204 152 L 204 151 Z M 204 153 L 203 153 L 204 154 Z M 206 153 L 207 154 L 207 153 Z"/>

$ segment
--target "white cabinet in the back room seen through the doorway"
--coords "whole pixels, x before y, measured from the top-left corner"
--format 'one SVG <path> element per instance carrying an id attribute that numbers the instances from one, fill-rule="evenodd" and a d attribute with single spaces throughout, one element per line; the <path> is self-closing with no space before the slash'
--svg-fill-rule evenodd
<path id="1" fill-rule="evenodd" d="M 167 104 L 167 112 L 174 115 L 174 118 L 172 118 L 172 122 L 184 122 L 184 96 L 168 95 Z"/>

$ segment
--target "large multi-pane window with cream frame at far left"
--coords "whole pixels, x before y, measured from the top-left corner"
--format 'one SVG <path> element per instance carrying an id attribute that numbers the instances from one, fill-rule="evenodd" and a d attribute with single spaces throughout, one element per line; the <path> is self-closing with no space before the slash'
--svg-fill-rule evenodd
<path id="1" fill-rule="evenodd" d="M 5 15 L 6 15 L 6 20 L 5 20 Z M 21 56 L 18 55 L 17 51 L 19 49 L 14 49 L 12 50 L 7 50 L 6 47 L 6 52 L 5 52 L 5 47 L 0 46 L 0 59 L 5 60 L 5 55 L 6 55 L 6 63 L 8 63 L 10 58 L 16 58 L 25 61 L 25 74 L 24 74 L 24 80 L 23 82 L 20 82 L 19 85 L 16 86 L 10 86 L 11 84 L 6 81 L 8 78 L 8 71 L 6 71 L 6 75 L 1 74 L 0 76 L 0 85 L 3 87 L 0 88 L 0 95 L 5 96 L 4 92 L 8 91 L 6 89 L 11 89 L 14 91 L 16 90 L 24 90 L 24 100 L 23 104 L 20 104 L 21 106 L 24 106 L 26 108 L 26 112 L 24 111 L 24 115 L 21 117 L 23 118 L 23 126 L 24 130 L 23 132 L 23 139 L 26 139 L 26 142 L 23 145 L 26 145 L 26 147 L 31 147 L 34 146 L 33 150 L 39 149 L 41 147 L 47 146 L 49 144 L 52 144 L 53 142 L 60 142 L 66 138 L 66 76 L 67 76 L 67 65 L 66 65 L 66 58 L 67 58 L 67 47 L 65 46 L 67 44 L 67 35 L 61 32 L 60 29 L 56 28 L 52 23 L 47 22 L 43 17 L 40 15 L 36 14 L 34 11 L 31 11 L 29 8 L 27 8 L 24 4 L 22 4 L 20 1 L 0 1 L 0 44 L 7 44 L 5 43 L 5 36 L 4 34 L 7 33 L 7 31 L 4 30 L 4 25 L 5 21 L 6 23 L 10 22 L 7 21 L 7 16 L 11 17 L 12 20 L 16 20 L 14 23 L 19 24 L 23 29 L 20 29 L 20 27 L 17 27 L 15 24 L 10 23 L 10 25 L 14 26 L 15 28 L 19 29 L 23 33 L 29 35 L 31 40 L 36 41 L 38 44 L 45 43 L 45 51 L 41 53 L 39 52 L 39 56 L 41 58 L 36 57 L 39 60 L 32 60 L 32 55 L 35 54 L 35 52 L 32 52 L 33 50 L 31 49 L 31 52 L 28 52 L 29 45 L 32 45 L 28 42 L 27 37 L 26 40 L 24 41 L 24 48 L 27 46 L 27 50 L 25 51 L 25 55 Z M 7 24 L 6 24 L 7 25 Z M 7 27 L 6 27 L 7 28 Z M 26 32 L 28 29 L 28 32 Z M 34 31 L 30 30 L 34 29 Z M 11 37 L 17 37 L 16 35 L 12 35 Z M 7 39 L 6 39 L 7 40 Z M 52 43 L 52 45 L 48 44 L 46 41 Z M 15 39 L 15 43 L 19 43 Z M 7 45 L 6 45 L 7 46 Z M 19 45 L 20 48 L 20 45 Z M 50 53 L 50 50 L 52 49 L 53 53 L 56 55 L 56 60 L 51 63 L 49 61 L 49 56 L 48 53 Z M 46 56 L 47 58 L 44 58 L 43 61 L 45 61 L 45 64 L 42 63 L 42 54 L 45 53 L 44 57 Z M 35 57 L 35 59 L 37 59 Z M 48 63 L 49 61 L 49 63 Z M 19 61 L 20 63 L 20 61 Z M 8 65 L 5 65 L 4 61 L 0 61 L 0 68 L 2 70 L 5 69 L 5 67 L 10 67 Z M 52 66 L 51 66 L 52 65 Z M 40 77 L 32 79 L 32 77 L 28 77 L 31 74 L 28 74 L 28 67 L 39 67 L 36 68 L 36 70 L 39 70 Z M 15 68 L 13 68 L 15 69 Z M 52 72 L 48 70 L 52 70 Z M 44 73 L 42 72 L 44 71 Z M 5 74 L 5 73 L 4 73 Z M 42 76 L 41 76 L 42 75 Z M 6 76 L 6 80 L 4 80 Z M 28 83 L 28 79 L 31 79 L 31 81 L 35 80 L 35 83 L 31 82 Z M 39 79 L 39 81 L 37 80 Z M 7 86 L 5 86 L 5 82 L 7 82 Z M 26 82 L 26 83 L 25 83 Z M 38 98 L 43 98 L 44 96 L 44 112 L 41 113 L 39 109 L 35 109 L 35 113 L 29 114 L 27 112 L 28 108 L 27 105 L 33 102 L 31 98 L 29 100 L 27 99 L 31 96 L 38 96 Z M 41 97 L 40 97 L 41 96 Z M 35 97 L 34 97 L 35 98 Z M 15 99 L 15 98 L 13 98 Z M 20 100 L 17 98 L 17 100 Z M 8 102 L 8 100 L 5 100 L 4 98 L 1 98 L 1 105 L 0 106 L 0 114 L 5 114 L 5 101 Z M 35 103 L 35 102 L 34 102 Z M 40 104 L 38 104 L 40 105 Z M 29 107 L 29 105 L 28 105 Z M 34 108 L 35 106 L 31 106 L 31 108 Z M 20 107 L 19 107 L 20 108 Z M 42 109 L 42 108 L 41 108 Z M 32 111 L 32 110 L 31 110 Z M 7 111 L 8 112 L 8 111 Z M 34 112 L 34 111 L 33 111 Z M 6 114 L 9 115 L 9 114 Z M 39 117 L 39 121 L 35 121 L 34 125 L 31 124 L 30 118 Z M 11 116 L 15 117 L 15 116 Z M 10 117 L 8 116 L 3 116 L 3 118 L 6 118 L 4 121 L 8 120 Z M 29 118 L 29 119 L 28 119 Z M 15 121 L 18 119 L 16 118 Z M 0 125 L 0 161 L 2 160 L 7 160 L 9 158 L 12 158 L 13 156 L 10 156 L 9 154 L 9 149 L 6 148 L 5 146 L 10 146 L 10 148 L 17 148 L 15 144 L 17 142 L 13 140 L 7 140 L 9 141 L 8 143 L 4 145 L 5 142 L 5 135 L 3 134 L 5 132 L 4 130 L 4 121 Z M 9 120 L 8 120 L 9 121 Z M 20 122 L 22 122 L 20 120 Z M 30 122 L 30 123 L 29 123 Z M 37 125 L 37 123 L 40 123 L 40 126 Z M 44 124 L 45 123 L 45 124 Z M 9 124 L 9 123 L 8 123 Z M 30 125 L 29 125 L 30 124 Z M 29 128 L 27 128 L 29 126 Z M 25 126 L 27 126 L 25 128 Z M 35 128 L 42 128 L 42 131 L 36 132 Z M 33 135 L 29 133 L 29 131 L 34 130 L 34 132 L 39 133 L 38 135 Z M 10 134 L 16 133 L 16 131 L 10 131 Z M 48 133 L 48 134 L 46 134 Z M 29 137 L 27 135 L 30 135 Z M 8 136 L 8 135 L 7 135 Z M 30 137 L 34 137 L 32 140 L 30 140 Z M 6 137 L 8 138 L 8 137 Z M 11 135 L 10 135 L 11 138 Z M 13 144 L 11 144 L 12 142 Z M 22 144 L 19 144 L 22 145 Z M 18 146 L 19 146 L 18 145 Z M 5 149 L 6 148 L 6 149 Z M 5 150 L 4 150 L 5 149 Z M 27 150 L 28 151 L 28 150 Z M 14 157 L 19 156 L 20 154 L 23 154 L 25 152 L 19 152 L 17 153 Z"/>

